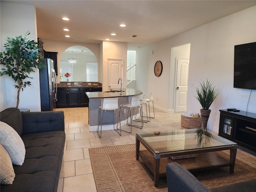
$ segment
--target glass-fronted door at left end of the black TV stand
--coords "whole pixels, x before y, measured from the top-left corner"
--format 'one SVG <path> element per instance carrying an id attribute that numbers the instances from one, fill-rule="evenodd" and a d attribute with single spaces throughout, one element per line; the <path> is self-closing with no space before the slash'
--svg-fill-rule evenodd
<path id="1" fill-rule="evenodd" d="M 232 116 L 228 116 L 228 115 L 223 115 L 221 116 L 221 126 L 220 126 L 220 130 L 219 133 L 226 137 L 226 138 L 233 138 L 233 134 L 234 134 L 234 117 Z"/>

